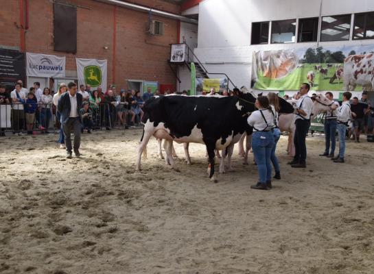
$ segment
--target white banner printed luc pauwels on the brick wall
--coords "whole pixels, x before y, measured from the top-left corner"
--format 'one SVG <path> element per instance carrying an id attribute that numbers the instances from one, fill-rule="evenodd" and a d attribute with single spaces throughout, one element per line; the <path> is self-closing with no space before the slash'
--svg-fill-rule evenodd
<path id="1" fill-rule="evenodd" d="M 56 55 L 26 53 L 26 75 L 36 77 L 65 77 L 66 58 Z"/>

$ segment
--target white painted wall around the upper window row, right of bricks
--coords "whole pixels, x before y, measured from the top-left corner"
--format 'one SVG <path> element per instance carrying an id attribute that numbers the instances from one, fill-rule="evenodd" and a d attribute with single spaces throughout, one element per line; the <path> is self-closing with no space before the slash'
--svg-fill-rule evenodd
<path id="1" fill-rule="evenodd" d="M 225 72 L 250 86 L 253 51 L 316 46 L 316 42 L 250 45 L 252 22 L 374 11 L 374 0 L 205 0 L 199 5 L 196 55 L 209 72 Z M 322 46 L 373 45 L 374 40 L 320 42 Z M 220 62 L 221 64 L 212 64 Z"/>

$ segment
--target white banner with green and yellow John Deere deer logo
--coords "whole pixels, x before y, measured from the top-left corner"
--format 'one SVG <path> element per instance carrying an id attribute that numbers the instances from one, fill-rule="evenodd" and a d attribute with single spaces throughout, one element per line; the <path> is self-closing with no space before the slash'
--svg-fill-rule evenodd
<path id="1" fill-rule="evenodd" d="M 75 58 L 77 62 L 78 84 L 90 85 L 95 90 L 101 87 L 106 90 L 107 60 Z"/>

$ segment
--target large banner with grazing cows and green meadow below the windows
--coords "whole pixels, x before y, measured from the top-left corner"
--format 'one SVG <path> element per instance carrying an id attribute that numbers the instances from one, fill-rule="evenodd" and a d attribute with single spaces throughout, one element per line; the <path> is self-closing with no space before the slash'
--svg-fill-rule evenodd
<path id="1" fill-rule="evenodd" d="M 257 90 L 373 90 L 374 45 L 253 52 Z"/>

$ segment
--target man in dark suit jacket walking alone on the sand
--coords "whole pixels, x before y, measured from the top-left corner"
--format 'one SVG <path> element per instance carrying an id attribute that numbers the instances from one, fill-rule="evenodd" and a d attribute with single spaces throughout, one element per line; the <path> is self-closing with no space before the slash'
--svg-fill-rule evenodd
<path id="1" fill-rule="evenodd" d="M 67 158 L 71 159 L 71 132 L 74 132 L 74 153 L 80 157 L 80 129 L 82 127 L 82 116 L 80 109 L 82 108 L 83 97 L 77 92 L 77 84 L 70 82 L 68 92 L 65 92 L 58 99 L 58 112 L 60 112 L 60 122 L 62 131 L 65 136 L 65 145 L 67 147 Z"/>

